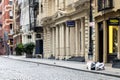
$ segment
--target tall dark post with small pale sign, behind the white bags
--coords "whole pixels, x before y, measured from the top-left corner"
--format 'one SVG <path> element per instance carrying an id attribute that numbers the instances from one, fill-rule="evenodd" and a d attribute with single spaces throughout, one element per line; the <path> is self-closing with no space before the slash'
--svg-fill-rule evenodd
<path id="1" fill-rule="evenodd" d="M 88 59 L 93 58 L 93 40 L 92 40 L 92 31 L 93 31 L 93 15 L 92 15 L 92 0 L 90 0 L 90 12 L 89 12 L 89 52 Z"/>

